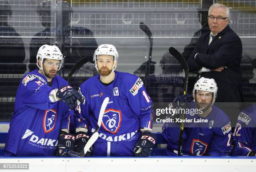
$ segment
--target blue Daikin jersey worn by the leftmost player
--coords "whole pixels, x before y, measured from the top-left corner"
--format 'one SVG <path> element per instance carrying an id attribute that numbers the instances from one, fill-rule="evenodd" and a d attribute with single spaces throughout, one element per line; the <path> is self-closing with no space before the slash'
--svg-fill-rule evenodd
<path id="1" fill-rule="evenodd" d="M 52 103 L 52 89 L 67 86 L 60 76 L 47 79 L 38 70 L 27 73 L 17 90 L 13 117 L 5 150 L 16 156 L 53 156 L 60 129 L 69 129 L 69 107 L 61 101 Z"/>

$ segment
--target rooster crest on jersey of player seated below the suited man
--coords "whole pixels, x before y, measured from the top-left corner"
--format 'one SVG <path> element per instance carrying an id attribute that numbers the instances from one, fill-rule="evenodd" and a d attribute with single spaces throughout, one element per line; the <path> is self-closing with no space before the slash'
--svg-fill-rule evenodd
<path id="1" fill-rule="evenodd" d="M 201 141 L 200 139 L 193 139 L 190 153 L 194 154 L 196 156 L 202 156 L 202 154 L 205 154 L 208 148 L 208 144 Z"/>

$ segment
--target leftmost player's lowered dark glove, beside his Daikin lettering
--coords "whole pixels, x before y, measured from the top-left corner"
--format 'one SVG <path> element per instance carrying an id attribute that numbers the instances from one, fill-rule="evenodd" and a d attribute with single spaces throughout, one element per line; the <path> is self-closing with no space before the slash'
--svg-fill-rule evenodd
<path id="1" fill-rule="evenodd" d="M 75 136 L 73 134 L 64 134 L 59 137 L 58 149 L 56 152 L 57 157 L 69 157 L 67 151 L 74 150 Z"/>

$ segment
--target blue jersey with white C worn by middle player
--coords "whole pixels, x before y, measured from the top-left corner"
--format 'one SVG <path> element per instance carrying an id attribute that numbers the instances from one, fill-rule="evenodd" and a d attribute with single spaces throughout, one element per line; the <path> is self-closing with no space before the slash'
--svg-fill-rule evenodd
<path id="1" fill-rule="evenodd" d="M 135 75 L 115 71 L 109 85 L 100 82 L 100 75 L 93 76 L 81 84 L 84 104 L 77 106 L 77 127 L 86 127 L 89 132 L 97 128 L 98 116 L 103 100 L 110 100 L 103 115 L 99 138 L 96 142 L 122 142 L 134 145 L 140 128 L 152 128 L 151 109 L 153 103 L 146 93 L 143 81 Z"/>

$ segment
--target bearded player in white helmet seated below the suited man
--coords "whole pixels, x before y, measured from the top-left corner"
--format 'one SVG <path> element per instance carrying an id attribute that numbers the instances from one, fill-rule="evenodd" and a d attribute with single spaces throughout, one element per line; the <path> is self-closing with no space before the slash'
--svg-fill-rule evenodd
<path id="1" fill-rule="evenodd" d="M 189 103 L 190 114 L 185 114 L 185 119 L 192 119 L 192 121 L 187 120 L 184 123 L 182 156 L 227 156 L 230 154 L 230 119 L 222 110 L 213 105 L 217 90 L 214 79 L 202 77 L 195 83 L 193 90 L 195 101 Z M 176 100 L 183 101 L 182 98 L 184 96 L 179 96 Z M 191 110 L 195 108 L 199 109 L 199 113 L 192 114 Z M 198 120 L 200 122 L 195 122 Z M 167 154 L 171 156 L 176 156 L 178 153 L 180 123 L 175 121 L 164 123 L 162 130 L 168 141 Z"/>

